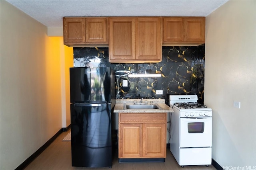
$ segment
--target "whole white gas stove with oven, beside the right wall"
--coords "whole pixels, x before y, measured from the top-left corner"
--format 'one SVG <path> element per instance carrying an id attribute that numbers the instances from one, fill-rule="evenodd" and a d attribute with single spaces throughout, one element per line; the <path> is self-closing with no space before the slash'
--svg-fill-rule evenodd
<path id="1" fill-rule="evenodd" d="M 170 151 L 180 166 L 212 162 L 212 109 L 197 95 L 170 95 Z"/>

